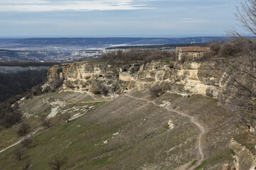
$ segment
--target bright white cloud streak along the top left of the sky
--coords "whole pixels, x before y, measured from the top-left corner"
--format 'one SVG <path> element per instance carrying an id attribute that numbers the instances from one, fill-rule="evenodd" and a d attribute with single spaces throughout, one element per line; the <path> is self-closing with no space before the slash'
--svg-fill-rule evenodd
<path id="1" fill-rule="evenodd" d="M 0 11 L 107 11 L 147 8 L 135 0 L 35 1 L 0 0 Z"/>

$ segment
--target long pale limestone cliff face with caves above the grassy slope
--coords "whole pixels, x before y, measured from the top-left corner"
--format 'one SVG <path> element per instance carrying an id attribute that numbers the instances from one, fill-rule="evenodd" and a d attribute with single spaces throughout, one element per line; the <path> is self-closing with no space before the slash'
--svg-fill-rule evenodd
<path id="1" fill-rule="evenodd" d="M 138 68 L 134 72 L 134 68 Z M 138 88 L 162 86 L 177 94 L 202 94 L 218 97 L 220 79 L 202 64 L 190 62 L 173 64 L 154 61 L 147 64 L 117 64 L 105 62 L 75 62 L 50 67 L 43 89 L 91 91 L 100 93 L 103 84 L 112 94 Z M 135 69 L 136 70 L 136 69 Z"/>

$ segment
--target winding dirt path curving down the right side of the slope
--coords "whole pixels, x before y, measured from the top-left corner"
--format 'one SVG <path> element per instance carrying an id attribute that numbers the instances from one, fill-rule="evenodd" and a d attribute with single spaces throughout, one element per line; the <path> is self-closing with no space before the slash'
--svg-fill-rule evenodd
<path id="1" fill-rule="evenodd" d="M 167 111 L 171 111 L 171 112 L 177 113 L 178 115 L 182 115 L 182 116 L 184 116 L 186 118 L 190 118 L 191 123 L 195 124 L 199 128 L 199 130 L 201 131 L 201 133 L 198 135 L 198 152 L 199 152 L 199 154 L 201 156 L 201 159 L 197 162 L 197 164 L 195 164 L 194 166 L 191 166 L 191 168 L 188 169 L 188 170 L 194 169 L 196 166 L 200 165 L 203 162 L 204 154 L 203 154 L 203 150 L 202 150 L 201 140 L 202 140 L 203 134 L 205 132 L 205 128 L 203 128 L 203 126 L 200 125 L 200 123 L 198 123 L 193 116 L 186 115 L 185 113 L 182 113 L 180 111 L 176 111 L 174 109 L 168 108 L 167 106 L 161 106 L 159 104 L 156 104 L 154 101 L 149 101 L 149 100 L 147 100 L 145 98 L 137 98 L 137 97 L 134 97 L 134 96 L 130 96 L 129 94 L 124 94 L 124 95 L 128 96 L 130 98 L 134 98 L 134 99 L 140 100 L 140 101 L 147 101 L 149 103 L 154 104 L 155 106 L 159 106 L 161 108 L 165 108 Z"/>

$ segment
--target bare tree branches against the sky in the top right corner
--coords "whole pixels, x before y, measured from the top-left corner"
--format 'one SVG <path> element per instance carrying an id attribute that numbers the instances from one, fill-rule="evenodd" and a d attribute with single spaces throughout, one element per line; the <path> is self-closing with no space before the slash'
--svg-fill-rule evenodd
<path id="1" fill-rule="evenodd" d="M 256 35 L 256 0 L 246 0 L 237 6 L 236 19 L 242 27 Z"/>

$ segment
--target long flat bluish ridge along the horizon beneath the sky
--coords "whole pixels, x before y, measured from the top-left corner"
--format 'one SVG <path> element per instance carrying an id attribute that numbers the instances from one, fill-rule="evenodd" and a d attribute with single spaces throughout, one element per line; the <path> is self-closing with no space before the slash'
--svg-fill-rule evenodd
<path id="1" fill-rule="evenodd" d="M 114 45 L 163 45 L 207 43 L 212 40 L 223 41 L 225 37 L 196 37 L 196 38 L 25 38 L 3 39 L 1 47 L 112 47 Z M 3 44 L 3 43 L 2 43 Z"/>

